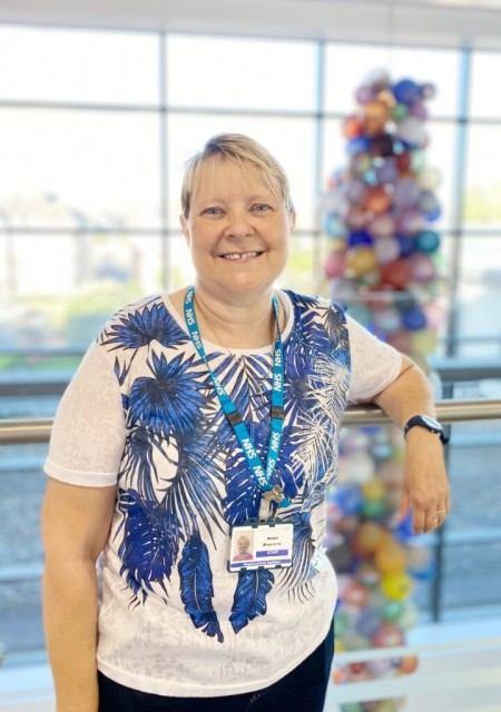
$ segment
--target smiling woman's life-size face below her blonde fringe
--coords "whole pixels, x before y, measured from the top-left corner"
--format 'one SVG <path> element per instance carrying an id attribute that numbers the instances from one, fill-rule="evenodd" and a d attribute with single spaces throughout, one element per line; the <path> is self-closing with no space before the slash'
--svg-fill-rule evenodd
<path id="1" fill-rule="evenodd" d="M 273 188 L 253 166 L 215 159 L 206 165 L 181 227 L 197 285 L 219 298 L 262 296 L 283 271 L 294 215 L 278 182 Z"/>

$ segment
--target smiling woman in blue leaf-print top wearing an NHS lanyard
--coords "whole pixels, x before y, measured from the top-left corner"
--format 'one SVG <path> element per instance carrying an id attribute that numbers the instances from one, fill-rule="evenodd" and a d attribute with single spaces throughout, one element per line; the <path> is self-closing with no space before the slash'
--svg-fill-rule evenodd
<path id="1" fill-rule="evenodd" d="M 402 513 L 416 534 L 450 507 L 440 425 L 421 417 L 433 402 L 409 358 L 340 309 L 275 289 L 295 212 L 264 148 L 209 140 L 181 202 L 194 286 L 111 317 L 53 427 L 43 590 L 57 712 L 320 712 L 336 601 L 325 488 L 346 402 L 407 424 Z M 263 566 L 235 572 L 249 526 Z"/>

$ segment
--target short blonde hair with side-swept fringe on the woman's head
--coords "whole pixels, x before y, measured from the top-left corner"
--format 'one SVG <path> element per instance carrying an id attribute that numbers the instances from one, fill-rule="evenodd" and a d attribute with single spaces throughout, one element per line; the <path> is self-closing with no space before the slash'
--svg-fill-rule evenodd
<path id="1" fill-rule="evenodd" d="M 183 216 L 188 218 L 191 198 L 197 190 L 203 169 L 215 158 L 233 160 L 242 166 L 257 168 L 274 190 L 273 180 L 278 182 L 285 207 L 289 214 L 294 212 L 291 198 L 288 178 L 281 164 L 261 144 L 243 134 L 218 134 L 206 142 L 204 148 L 186 162 L 185 177 L 181 187 Z"/>

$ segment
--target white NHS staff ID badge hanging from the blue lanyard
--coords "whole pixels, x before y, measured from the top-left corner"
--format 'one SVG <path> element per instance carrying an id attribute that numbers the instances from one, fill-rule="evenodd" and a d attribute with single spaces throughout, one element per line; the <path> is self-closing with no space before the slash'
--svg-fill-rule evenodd
<path id="1" fill-rule="evenodd" d="M 232 530 L 228 571 L 292 566 L 294 526 L 278 521 Z"/>

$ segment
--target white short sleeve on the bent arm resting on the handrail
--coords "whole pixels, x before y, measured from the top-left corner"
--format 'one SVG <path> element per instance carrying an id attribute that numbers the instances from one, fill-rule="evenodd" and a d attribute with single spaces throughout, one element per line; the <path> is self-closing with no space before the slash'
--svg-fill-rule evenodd
<path id="1" fill-rule="evenodd" d="M 381 342 L 350 316 L 346 317 L 352 358 L 348 402 L 373 398 L 399 376 L 402 355 Z"/>

